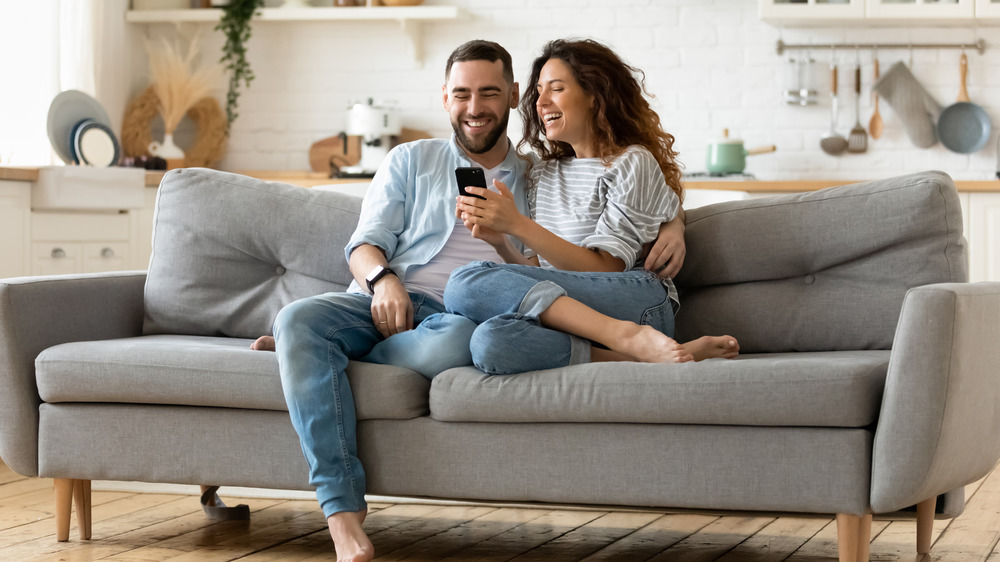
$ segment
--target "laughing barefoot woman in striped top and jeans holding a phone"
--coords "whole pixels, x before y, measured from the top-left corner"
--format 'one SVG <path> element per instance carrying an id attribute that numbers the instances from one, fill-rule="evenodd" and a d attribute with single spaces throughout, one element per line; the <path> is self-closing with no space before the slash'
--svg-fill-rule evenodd
<path id="1" fill-rule="evenodd" d="M 520 262 L 474 262 L 445 290 L 449 312 L 480 323 L 472 354 L 484 372 L 736 356 L 730 336 L 674 341 L 673 282 L 640 266 L 664 217 L 680 212 L 681 186 L 673 136 L 638 74 L 595 41 L 550 42 L 520 104 L 521 146 L 539 157 L 530 171 L 535 220 L 517 212 L 500 182 L 498 192 L 469 188 L 485 199 L 458 198 L 473 235 Z M 537 256 L 520 256 L 506 235 Z"/>

